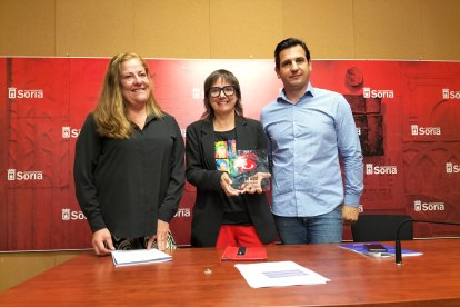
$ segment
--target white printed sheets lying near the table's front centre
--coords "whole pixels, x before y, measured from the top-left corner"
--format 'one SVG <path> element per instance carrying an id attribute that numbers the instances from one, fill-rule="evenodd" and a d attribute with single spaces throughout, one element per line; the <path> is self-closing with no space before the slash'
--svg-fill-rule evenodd
<path id="1" fill-rule="evenodd" d="M 293 261 L 237 264 L 234 266 L 252 288 L 320 285 L 330 281 Z"/>

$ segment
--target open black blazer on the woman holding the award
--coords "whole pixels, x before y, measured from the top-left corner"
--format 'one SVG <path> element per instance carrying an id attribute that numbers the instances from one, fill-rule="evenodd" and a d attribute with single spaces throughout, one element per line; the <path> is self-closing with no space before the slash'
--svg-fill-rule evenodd
<path id="1" fill-rule="evenodd" d="M 237 149 L 267 149 L 267 139 L 259 121 L 236 117 Z M 216 246 L 223 218 L 223 202 L 228 197 L 220 186 L 222 172 L 216 168 L 216 133 L 210 120 L 198 120 L 187 127 L 187 180 L 197 187 L 193 207 L 191 245 Z M 277 228 L 266 194 L 241 196 L 252 225 L 262 242 L 277 239 Z"/>

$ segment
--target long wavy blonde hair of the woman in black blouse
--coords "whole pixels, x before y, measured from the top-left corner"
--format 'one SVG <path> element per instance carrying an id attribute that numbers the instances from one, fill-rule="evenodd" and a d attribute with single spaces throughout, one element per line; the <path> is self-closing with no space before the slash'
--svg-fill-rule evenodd
<path id="1" fill-rule="evenodd" d="M 133 52 L 119 53 L 110 60 L 98 105 L 93 111 L 98 133 L 101 137 L 128 139 L 132 133 L 133 128 L 128 118 L 127 102 L 121 92 L 121 63 L 131 59 L 138 59 L 142 63 L 150 85 L 152 83 L 149 67 L 139 55 Z M 158 118 L 164 116 L 153 97 L 151 86 L 150 96 L 147 100 L 147 115 Z"/>

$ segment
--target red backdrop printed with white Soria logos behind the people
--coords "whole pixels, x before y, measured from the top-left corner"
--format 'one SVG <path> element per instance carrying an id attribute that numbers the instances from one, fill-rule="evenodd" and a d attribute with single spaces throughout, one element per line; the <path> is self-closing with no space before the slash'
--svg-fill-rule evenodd
<path id="1" fill-rule="evenodd" d="M 108 61 L 0 58 L 0 250 L 90 247 L 72 164 Z M 148 62 L 154 95 L 183 133 L 202 113 L 203 81 L 216 69 L 237 76 L 250 118 L 259 119 L 282 88 L 272 60 Z M 313 61 L 313 86 L 343 93 L 353 110 L 364 152 L 362 211 L 460 221 L 459 76 L 459 62 Z M 193 202 L 194 188 L 187 185 L 171 224 L 180 245 L 189 244 Z M 416 237 L 460 236 L 449 226 L 414 228 Z"/>

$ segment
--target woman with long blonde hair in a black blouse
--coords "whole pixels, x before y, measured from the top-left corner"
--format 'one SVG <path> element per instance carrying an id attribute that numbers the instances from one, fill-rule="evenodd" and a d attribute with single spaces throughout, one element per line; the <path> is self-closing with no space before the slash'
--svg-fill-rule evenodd
<path id="1" fill-rule="evenodd" d="M 76 194 L 99 256 L 174 247 L 169 222 L 183 192 L 184 145 L 151 85 L 140 56 L 114 56 L 77 140 Z"/>

